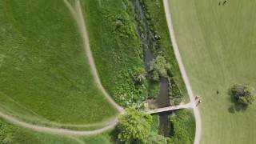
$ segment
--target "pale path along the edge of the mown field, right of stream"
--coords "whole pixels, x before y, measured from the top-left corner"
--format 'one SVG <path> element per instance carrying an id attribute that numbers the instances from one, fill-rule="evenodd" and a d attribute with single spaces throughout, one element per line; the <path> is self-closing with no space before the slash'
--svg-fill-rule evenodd
<path id="1" fill-rule="evenodd" d="M 170 32 L 170 39 L 171 39 L 171 42 L 174 47 L 174 54 L 177 59 L 179 69 L 181 70 L 182 78 L 183 78 L 183 81 L 185 82 L 186 90 L 190 97 L 190 102 L 192 102 L 192 105 L 193 105 L 194 118 L 195 118 L 195 122 L 196 122 L 194 144 L 199 144 L 200 140 L 201 140 L 201 135 L 202 135 L 202 122 L 201 122 L 200 112 L 198 110 L 198 107 L 196 106 L 194 94 L 193 94 L 192 88 L 190 86 L 190 80 L 189 80 L 188 76 L 186 75 L 185 66 L 182 62 L 182 57 L 178 50 L 178 44 L 177 44 L 177 41 L 176 41 L 176 38 L 174 35 L 174 26 L 173 26 L 171 14 L 170 14 L 170 2 L 169 2 L 169 0 L 163 0 L 163 3 L 164 3 L 165 12 L 166 12 L 166 20 L 167 20 L 167 24 L 168 24 L 168 28 L 169 28 L 169 32 Z"/>

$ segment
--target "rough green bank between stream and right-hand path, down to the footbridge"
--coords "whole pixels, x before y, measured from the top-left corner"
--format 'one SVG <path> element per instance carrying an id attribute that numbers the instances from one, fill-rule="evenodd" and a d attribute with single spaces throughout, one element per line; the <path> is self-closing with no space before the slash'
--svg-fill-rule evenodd
<path id="1" fill-rule="evenodd" d="M 163 2 L 161 0 L 140 0 L 148 15 L 148 21 L 150 22 L 150 30 L 154 33 L 154 37 L 158 43 L 158 55 L 162 55 L 166 58 L 166 62 L 170 66 L 168 76 L 170 77 L 170 98 L 173 99 L 174 104 L 178 104 L 181 101 L 186 101 L 186 87 L 182 80 L 182 75 L 178 68 L 172 44 L 170 42 L 170 34 L 168 26 L 166 24 L 165 11 L 163 8 Z M 170 90 L 169 90 L 170 91 Z"/>

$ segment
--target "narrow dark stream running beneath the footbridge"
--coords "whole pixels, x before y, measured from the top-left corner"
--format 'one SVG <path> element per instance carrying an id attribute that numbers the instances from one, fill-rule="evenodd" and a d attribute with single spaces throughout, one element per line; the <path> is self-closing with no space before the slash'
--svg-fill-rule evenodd
<path id="1" fill-rule="evenodd" d="M 150 73 L 150 62 L 156 58 L 160 46 L 155 38 L 154 26 L 150 24 L 150 15 L 146 13 L 146 8 L 142 0 L 131 0 L 134 4 L 135 26 L 138 36 L 142 42 L 144 66 Z M 170 98 L 168 95 L 168 78 L 160 78 L 160 93 L 157 98 L 158 107 L 170 106 Z M 170 134 L 170 122 L 168 115 L 171 113 L 159 114 L 159 133 L 168 136 Z"/>

